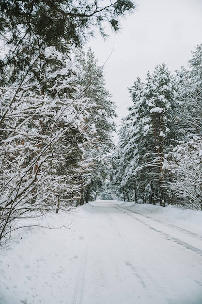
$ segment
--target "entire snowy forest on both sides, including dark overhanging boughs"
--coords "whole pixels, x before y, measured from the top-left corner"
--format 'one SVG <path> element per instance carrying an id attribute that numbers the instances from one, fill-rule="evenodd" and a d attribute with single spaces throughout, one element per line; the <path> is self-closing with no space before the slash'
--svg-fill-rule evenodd
<path id="1" fill-rule="evenodd" d="M 129 0 L 3 1 L 0 18 L 0 240 L 19 219 L 68 210 L 104 193 L 202 209 L 202 46 L 188 68 L 164 64 L 129 88 L 122 119 L 103 67 L 82 46 L 119 29 Z"/>

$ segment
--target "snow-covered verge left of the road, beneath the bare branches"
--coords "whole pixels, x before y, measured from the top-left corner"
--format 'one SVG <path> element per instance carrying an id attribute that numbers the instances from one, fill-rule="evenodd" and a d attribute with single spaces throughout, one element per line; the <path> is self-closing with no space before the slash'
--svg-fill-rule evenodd
<path id="1" fill-rule="evenodd" d="M 40 224 L 52 229 L 31 227 L 15 232 L 14 239 L 0 250 L 0 304 L 68 302 L 83 239 L 76 229 L 85 220 L 83 209 L 47 216 Z"/>

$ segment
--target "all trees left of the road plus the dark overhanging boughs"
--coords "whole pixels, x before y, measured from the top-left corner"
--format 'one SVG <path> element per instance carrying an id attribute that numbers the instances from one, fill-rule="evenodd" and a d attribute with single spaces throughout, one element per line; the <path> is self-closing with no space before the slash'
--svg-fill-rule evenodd
<path id="1" fill-rule="evenodd" d="M 0 240 L 17 220 L 68 209 L 84 191 L 88 201 L 104 185 L 114 105 L 93 54 L 81 62 L 75 47 L 96 28 L 106 36 L 106 23 L 118 31 L 135 6 L 0 0 Z"/>

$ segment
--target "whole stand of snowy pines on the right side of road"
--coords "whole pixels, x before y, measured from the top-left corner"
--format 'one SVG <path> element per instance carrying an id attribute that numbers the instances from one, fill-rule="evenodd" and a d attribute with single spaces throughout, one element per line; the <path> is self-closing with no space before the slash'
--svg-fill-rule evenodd
<path id="1" fill-rule="evenodd" d="M 111 184 L 124 201 L 202 210 L 202 45 L 175 75 L 165 64 L 129 89 Z"/>

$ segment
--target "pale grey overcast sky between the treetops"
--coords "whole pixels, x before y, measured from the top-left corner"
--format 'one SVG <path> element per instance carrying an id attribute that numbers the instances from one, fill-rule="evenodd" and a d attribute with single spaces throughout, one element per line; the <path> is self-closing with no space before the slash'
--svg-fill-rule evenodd
<path id="1" fill-rule="evenodd" d="M 148 70 L 165 63 L 171 72 L 187 66 L 191 51 L 202 44 L 202 0 L 138 0 L 133 15 L 122 20 L 119 34 L 107 41 L 97 36 L 90 46 L 102 66 L 106 87 L 113 95 L 120 123 L 132 104 L 128 87 L 138 76 L 145 79 Z"/>

